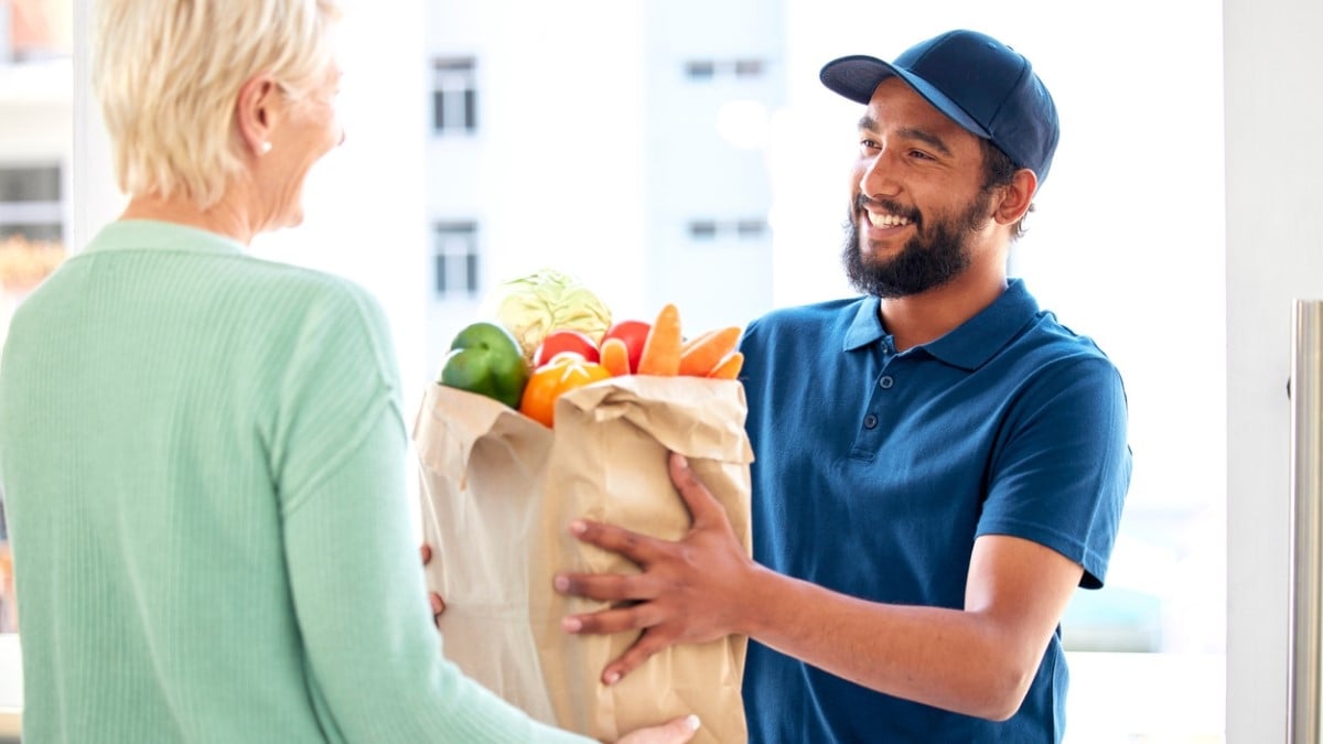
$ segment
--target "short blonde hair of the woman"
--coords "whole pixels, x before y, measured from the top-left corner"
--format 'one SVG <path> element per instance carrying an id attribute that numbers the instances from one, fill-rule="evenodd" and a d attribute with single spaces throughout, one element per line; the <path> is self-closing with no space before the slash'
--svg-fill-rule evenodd
<path id="1" fill-rule="evenodd" d="M 120 191 L 214 205 L 242 171 L 234 106 L 270 74 L 298 94 L 332 62 L 335 0 L 98 0 L 93 90 Z"/>

